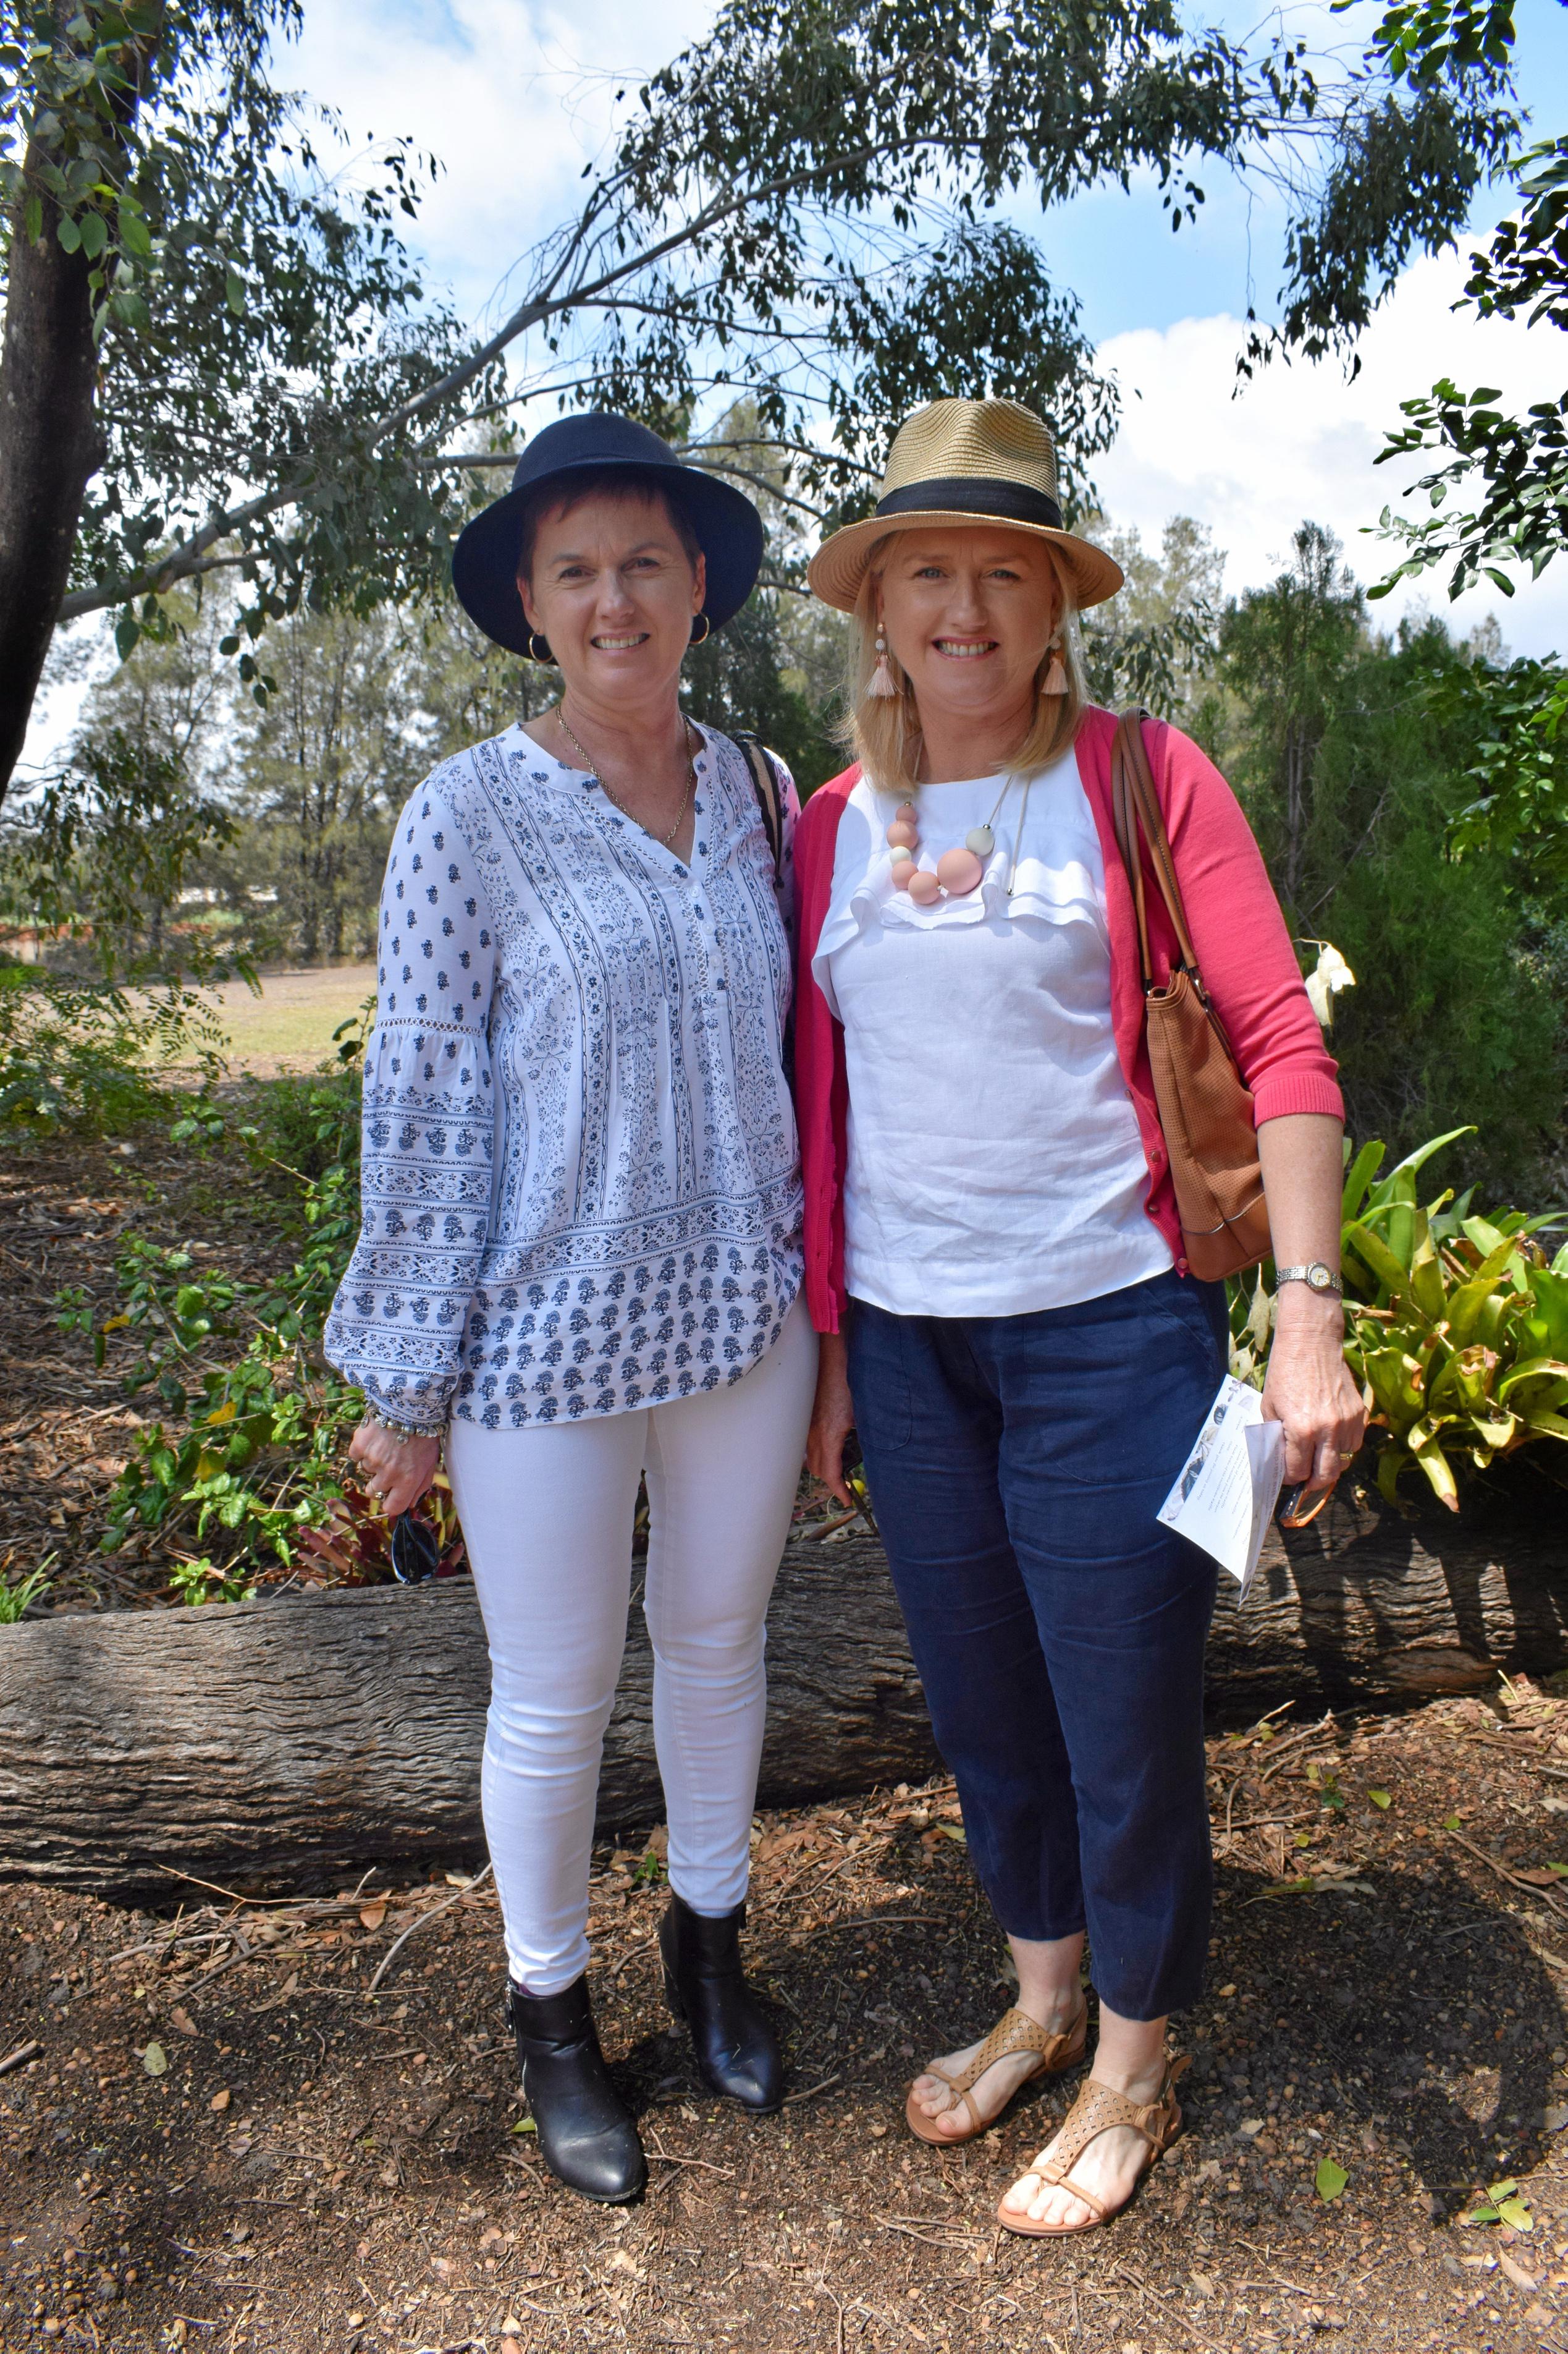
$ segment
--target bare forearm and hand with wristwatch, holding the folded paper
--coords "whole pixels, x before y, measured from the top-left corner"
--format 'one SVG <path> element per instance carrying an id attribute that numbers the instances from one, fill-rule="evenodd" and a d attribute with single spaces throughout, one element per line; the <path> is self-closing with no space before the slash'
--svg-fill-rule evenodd
<path id="1" fill-rule="evenodd" d="M 1323 1259 L 1340 1271 L 1340 1121 L 1293 1111 L 1257 1130 L 1276 1266 Z M 1344 1309 L 1333 1292 L 1278 1292 L 1264 1415 L 1285 1429 L 1285 1478 L 1333 1488 L 1366 1436 L 1361 1391 L 1344 1363 Z"/>

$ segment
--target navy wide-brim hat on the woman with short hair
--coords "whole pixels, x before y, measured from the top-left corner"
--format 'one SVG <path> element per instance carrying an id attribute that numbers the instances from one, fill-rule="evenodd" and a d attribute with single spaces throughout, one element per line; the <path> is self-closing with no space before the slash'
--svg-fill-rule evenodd
<path id="1" fill-rule="evenodd" d="M 692 525 L 706 558 L 702 610 L 713 629 L 730 621 L 756 586 L 763 567 L 763 518 L 744 492 L 713 473 L 683 466 L 669 443 L 631 417 L 586 410 L 537 433 L 511 478 L 511 490 L 473 518 L 452 548 L 452 586 L 487 638 L 513 654 L 527 654 L 527 619 L 518 596 L 523 508 L 546 485 L 593 487 L 596 473 L 647 473 Z"/>

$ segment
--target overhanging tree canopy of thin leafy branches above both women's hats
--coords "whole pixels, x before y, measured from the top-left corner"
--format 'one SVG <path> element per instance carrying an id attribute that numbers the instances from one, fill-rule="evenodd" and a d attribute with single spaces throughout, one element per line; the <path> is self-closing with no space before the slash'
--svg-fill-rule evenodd
<path id="1" fill-rule="evenodd" d="M 1198 169 L 1269 181 L 1290 228 L 1267 344 L 1349 351 L 1519 132 L 1490 59 L 1398 82 L 1384 59 L 1189 33 L 1168 0 L 730 0 L 622 94 L 577 210 L 471 334 L 396 233 L 417 158 L 379 146 L 372 172 L 327 177 L 334 127 L 268 80 L 294 24 L 297 0 L 0 9 L 5 774 L 59 614 L 120 607 L 129 645 L 174 581 L 221 565 L 242 650 L 301 603 L 417 598 L 445 577 L 469 466 L 542 393 L 685 431 L 744 388 L 822 513 L 864 504 L 916 400 L 1012 393 L 1052 417 L 1083 497 L 1116 393 L 998 207 L 1151 169 L 1180 228 Z M 75 490 L 71 466 L 45 480 L 40 403 Z M 746 471 L 735 447 L 711 461 Z"/>

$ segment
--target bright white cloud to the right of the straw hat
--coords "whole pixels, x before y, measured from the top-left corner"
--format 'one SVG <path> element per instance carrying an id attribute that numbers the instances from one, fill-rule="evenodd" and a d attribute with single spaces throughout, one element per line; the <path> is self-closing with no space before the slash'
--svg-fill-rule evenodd
<path id="1" fill-rule="evenodd" d="M 1509 407 L 1556 400 L 1563 388 L 1563 339 L 1547 327 L 1476 320 L 1450 311 L 1464 278 L 1455 254 L 1417 261 L 1361 339 L 1361 374 L 1342 367 L 1269 367 L 1231 398 L 1245 327 L 1227 315 L 1187 318 L 1165 330 L 1116 334 L 1099 358 L 1123 388 L 1123 428 L 1095 473 L 1116 523 L 1135 523 L 1158 541 L 1168 516 L 1208 523 L 1227 551 L 1227 588 L 1271 579 L 1290 553 L 1290 534 L 1311 518 L 1342 541 L 1363 581 L 1389 570 L 1389 544 L 1363 537 L 1396 492 L 1427 468 L 1401 459 L 1375 466 L 1398 403 L 1439 377 L 1462 391 L 1495 386 Z M 1417 513 L 1415 506 L 1406 508 Z M 1495 612 L 1519 654 L 1568 654 L 1568 565 L 1514 598 L 1483 586 L 1455 605 L 1441 572 L 1375 605 L 1387 624 L 1427 605 L 1455 631 Z"/>

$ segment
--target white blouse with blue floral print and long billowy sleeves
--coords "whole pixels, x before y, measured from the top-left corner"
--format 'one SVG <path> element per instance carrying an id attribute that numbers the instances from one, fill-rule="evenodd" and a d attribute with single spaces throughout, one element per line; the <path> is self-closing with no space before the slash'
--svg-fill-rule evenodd
<path id="1" fill-rule="evenodd" d="M 414 1429 L 737 1382 L 800 1288 L 784 887 L 702 730 L 690 864 L 520 727 L 393 836 L 363 1224 L 325 1354 Z"/>

